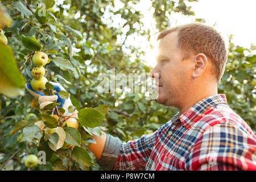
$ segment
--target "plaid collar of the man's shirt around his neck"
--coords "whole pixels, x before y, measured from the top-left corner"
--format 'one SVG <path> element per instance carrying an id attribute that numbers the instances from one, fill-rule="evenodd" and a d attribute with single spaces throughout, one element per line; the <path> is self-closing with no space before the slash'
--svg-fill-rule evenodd
<path id="1" fill-rule="evenodd" d="M 183 126 L 188 129 L 189 126 L 191 126 L 192 123 L 195 122 L 198 117 L 200 117 L 200 115 L 204 114 L 205 111 L 216 104 L 226 104 L 225 94 L 216 94 L 214 96 L 204 98 L 190 107 L 183 114 L 179 114 L 179 112 L 175 114 L 171 121 L 177 122 L 177 118 L 179 118 Z"/>

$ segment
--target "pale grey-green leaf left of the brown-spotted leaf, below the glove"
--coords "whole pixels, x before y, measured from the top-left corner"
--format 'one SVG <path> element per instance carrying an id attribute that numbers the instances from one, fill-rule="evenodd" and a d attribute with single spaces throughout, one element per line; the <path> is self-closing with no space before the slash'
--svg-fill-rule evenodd
<path id="1" fill-rule="evenodd" d="M 35 139 L 39 139 L 42 137 L 41 130 L 36 125 L 30 125 L 23 129 L 21 142 L 27 141 L 32 142 Z"/>

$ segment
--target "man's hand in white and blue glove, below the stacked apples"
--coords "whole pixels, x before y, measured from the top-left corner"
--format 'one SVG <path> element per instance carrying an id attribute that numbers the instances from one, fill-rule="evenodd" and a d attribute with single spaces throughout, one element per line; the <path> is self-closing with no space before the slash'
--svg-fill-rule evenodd
<path id="1" fill-rule="evenodd" d="M 52 84 L 54 86 L 54 90 L 56 90 L 56 93 L 54 96 L 46 96 L 44 93 L 42 92 L 37 92 L 35 90 L 32 89 L 31 84 L 27 83 L 25 85 L 27 91 L 32 94 L 32 96 L 37 97 L 39 104 L 40 104 L 40 109 L 43 109 L 44 106 L 51 104 L 53 102 L 58 102 L 60 103 L 59 106 L 57 107 L 63 107 L 63 109 L 65 109 L 65 113 L 64 115 L 71 115 L 72 113 L 68 113 L 68 107 L 72 105 L 72 102 L 70 100 L 70 98 L 68 97 L 67 100 L 64 100 L 63 98 L 60 98 L 59 96 L 59 92 L 61 90 L 64 90 L 64 87 L 62 85 L 60 85 L 59 83 L 55 83 L 55 82 L 49 82 L 50 84 Z M 67 91 L 66 91 L 67 92 Z M 77 113 L 77 110 L 75 111 L 75 113 Z"/>

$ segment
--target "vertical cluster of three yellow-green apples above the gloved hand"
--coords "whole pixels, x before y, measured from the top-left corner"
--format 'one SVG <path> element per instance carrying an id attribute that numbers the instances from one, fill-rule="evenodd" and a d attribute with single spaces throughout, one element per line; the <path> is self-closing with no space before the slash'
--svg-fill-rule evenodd
<path id="1" fill-rule="evenodd" d="M 34 77 L 31 80 L 31 86 L 35 91 L 41 92 L 46 89 L 47 78 L 44 77 L 46 74 L 44 65 L 48 63 L 48 56 L 44 52 L 36 52 L 32 57 L 32 61 L 36 67 L 32 68 L 31 70 L 31 75 Z"/>

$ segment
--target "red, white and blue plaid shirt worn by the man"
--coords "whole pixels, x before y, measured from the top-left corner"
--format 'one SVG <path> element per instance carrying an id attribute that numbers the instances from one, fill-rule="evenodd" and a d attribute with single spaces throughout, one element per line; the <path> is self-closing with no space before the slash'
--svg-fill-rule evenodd
<path id="1" fill-rule="evenodd" d="M 256 170 L 256 136 L 217 94 L 122 143 L 114 170 Z"/>

